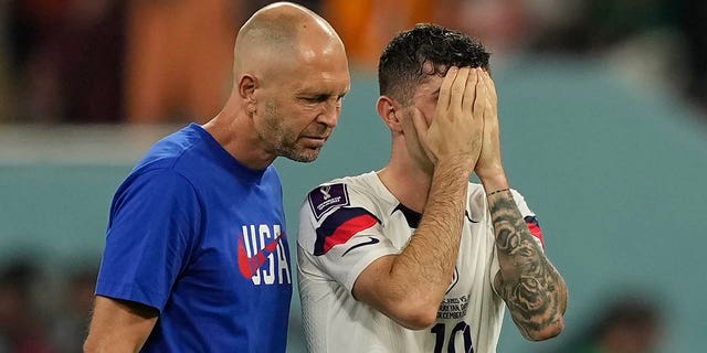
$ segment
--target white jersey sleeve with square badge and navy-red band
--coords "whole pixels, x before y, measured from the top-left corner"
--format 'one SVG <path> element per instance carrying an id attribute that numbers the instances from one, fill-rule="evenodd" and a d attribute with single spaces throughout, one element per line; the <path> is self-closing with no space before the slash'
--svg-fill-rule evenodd
<path id="1" fill-rule="evenodd" d="M 383 236 L 381 220 L 368 197 L 347 184 L 321 185 L 312 191 L 299 213 L 299 247 L 321 272 L 349 291 L 358 276 L 376 259 L 400 250 Z"/>

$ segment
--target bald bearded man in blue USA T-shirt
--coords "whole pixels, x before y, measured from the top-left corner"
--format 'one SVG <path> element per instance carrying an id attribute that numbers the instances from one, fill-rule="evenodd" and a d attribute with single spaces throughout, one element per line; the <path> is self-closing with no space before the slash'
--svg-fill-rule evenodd
<path id="1" fill-rule="evenodd" d="M 233 90 L 157 142 L 110 207 L 87 352 L 285 352 L 293 269 L 278 156 L 314 161 L 349 89 L 341 40 L 287 2 L 239 31 Z"/>

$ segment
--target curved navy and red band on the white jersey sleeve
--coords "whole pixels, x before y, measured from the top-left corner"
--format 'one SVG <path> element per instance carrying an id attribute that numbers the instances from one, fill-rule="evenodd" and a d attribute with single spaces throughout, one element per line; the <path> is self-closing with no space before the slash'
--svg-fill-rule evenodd
<path id="1" fill-rule="evenodd" d="M 314 255 L 321 256 L 334 246 L 345 244 L 357 233 L 380 223 L 366 208 L 339 208 L 330 214 L 317 228 L 317 240 L 314 244 Z"/>

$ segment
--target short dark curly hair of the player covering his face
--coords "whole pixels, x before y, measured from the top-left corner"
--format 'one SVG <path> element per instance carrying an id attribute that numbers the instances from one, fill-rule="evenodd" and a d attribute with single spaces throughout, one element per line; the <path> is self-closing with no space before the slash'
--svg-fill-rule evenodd
<path id="1" fill-rule="evenodd" d="M 482 44 L 471 36 L 431 23 L 421 23 L 399 33 L 383 50 L 378 64 L 381 95 L 408 105 L 415 87 L 429 75 L 444 75 L 450 66 L 483 67 L 488 57 Z M 432 69 L 425 63 L 432 64 Z"/>

